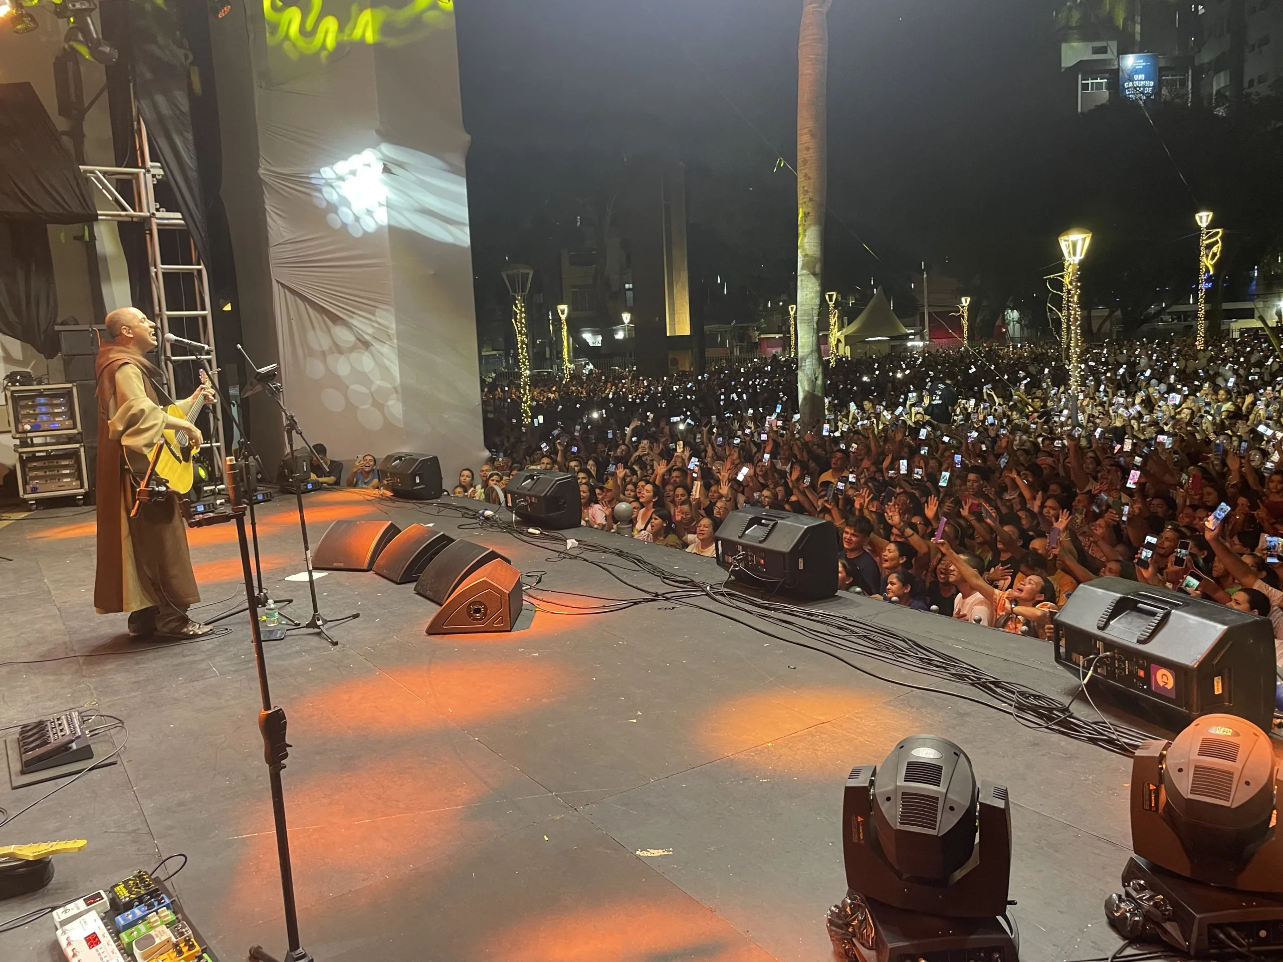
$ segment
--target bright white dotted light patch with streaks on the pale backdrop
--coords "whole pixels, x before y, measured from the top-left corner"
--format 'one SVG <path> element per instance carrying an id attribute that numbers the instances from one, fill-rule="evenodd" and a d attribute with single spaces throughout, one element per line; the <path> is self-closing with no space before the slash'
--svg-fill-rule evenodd
<path id="1" fill-rule="evenodd" d="M 312 200 L 326 222 L 353 237 L 399 227 L 468 246 L 467 181 L 444 160 L 396 144 L 367 148 L 312 174 Z"/>

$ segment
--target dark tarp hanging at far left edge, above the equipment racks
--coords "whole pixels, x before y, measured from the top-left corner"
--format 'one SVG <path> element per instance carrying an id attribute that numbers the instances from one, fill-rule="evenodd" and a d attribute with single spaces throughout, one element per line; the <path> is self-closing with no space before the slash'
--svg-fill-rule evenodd
<path id="1" fill-rule="evenodd" d="M 58 354 L 50 223 L 98 219 L 89 182 L 30 83 L 0 83 L 0 333 Z"/>

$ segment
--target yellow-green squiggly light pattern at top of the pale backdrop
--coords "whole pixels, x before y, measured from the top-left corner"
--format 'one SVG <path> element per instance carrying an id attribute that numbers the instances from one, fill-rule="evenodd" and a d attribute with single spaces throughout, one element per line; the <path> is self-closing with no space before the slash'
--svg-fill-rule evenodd
<path id="1" fill-rule="evenodd" d="M 323 0 L 307 0 L 304 13 L 303 6 L 282 0 L 263 0 L 268 45 L 280 46 L 294 60 L 313 54 L 326 60 L 340 44 L 402 46 L 422 40 L 449 27 L 454 17 L 454 0 L 411 0 L 399 8 L 352 4 L 340 30 L 337 17 L 321 15 L 322 5 Z"/>

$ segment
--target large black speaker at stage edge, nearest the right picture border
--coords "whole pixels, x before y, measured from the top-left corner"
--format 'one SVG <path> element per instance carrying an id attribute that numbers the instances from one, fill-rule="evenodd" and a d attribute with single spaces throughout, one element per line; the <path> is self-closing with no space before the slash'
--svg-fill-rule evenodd
<path id="1" fill-rule="evenodd" d="M 1124 578 L 1074 589 L 1055 618 L 1056 661 L 1128 708 L 1180 730 L 1211 712 L 1269 731 L 1274 632 L 1269 618 Z"/>

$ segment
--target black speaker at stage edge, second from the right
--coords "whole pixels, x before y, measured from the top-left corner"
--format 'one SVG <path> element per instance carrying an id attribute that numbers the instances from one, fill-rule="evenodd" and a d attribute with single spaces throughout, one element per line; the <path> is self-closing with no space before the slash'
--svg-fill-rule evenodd
<path id="1" fill-rule="evenodd" d="M 797 598 L 838 594 L 838 528 L 786 511 L 740 508 L 715 536 L 717 563 L 736 581 Z"/>

